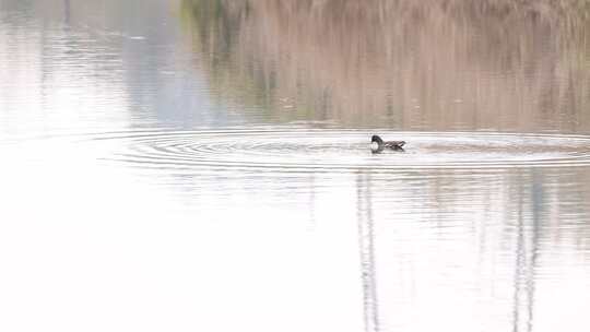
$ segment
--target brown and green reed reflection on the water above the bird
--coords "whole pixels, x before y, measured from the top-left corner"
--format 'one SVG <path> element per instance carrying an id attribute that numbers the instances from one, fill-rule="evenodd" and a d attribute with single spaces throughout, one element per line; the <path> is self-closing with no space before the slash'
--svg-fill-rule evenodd
<path id="1" fill-rule="evenodd" d="M 181 13 L 213 90 L 276 121 L 590 130 L 576 1 L 185 0 Z"/>

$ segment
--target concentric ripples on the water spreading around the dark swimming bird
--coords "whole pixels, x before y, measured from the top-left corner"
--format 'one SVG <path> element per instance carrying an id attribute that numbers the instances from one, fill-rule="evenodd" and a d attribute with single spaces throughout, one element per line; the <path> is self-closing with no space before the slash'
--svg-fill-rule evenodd
<path id="1" fill-rule="evenodd" d="M 506 168 L 590 165 L 590 137 L 484 132 L 384 132 L 405 152 L 371 154 L 373 132 L 233 130 L 142 132 L 109 159 L 143 167 L 375 171 L 408 168 Z"/>

